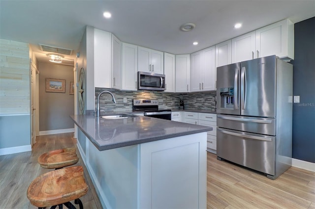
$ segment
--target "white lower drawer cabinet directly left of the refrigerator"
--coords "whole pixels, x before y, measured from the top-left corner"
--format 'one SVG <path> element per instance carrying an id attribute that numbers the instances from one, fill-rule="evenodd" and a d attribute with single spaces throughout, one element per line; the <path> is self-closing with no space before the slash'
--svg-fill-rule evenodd
<path id="1" fill-rule="evenodd" d="M 198 125 L 212 127 L 207 132 L 207 151 L 217 153 L 217 115 L 210 113 L 198 113 Z"/>

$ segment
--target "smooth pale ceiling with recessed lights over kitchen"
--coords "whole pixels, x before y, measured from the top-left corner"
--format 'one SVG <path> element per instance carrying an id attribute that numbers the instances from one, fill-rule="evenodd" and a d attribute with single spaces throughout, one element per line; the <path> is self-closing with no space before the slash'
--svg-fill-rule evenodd
<path id="1" fill-rule="evenodd" d="M 89 25 L 123 42 L 185 54 L 286 18 L 297 23 L 314 16 L 315 0 L 0 0 L 0 38 L 30 43 L 46 62 L 48 52 L 38 44 L 75 51 Z M 185 23 L 196 27 L 183 32 Z M 64 56 L 73 60 L 75 53 Z"/>

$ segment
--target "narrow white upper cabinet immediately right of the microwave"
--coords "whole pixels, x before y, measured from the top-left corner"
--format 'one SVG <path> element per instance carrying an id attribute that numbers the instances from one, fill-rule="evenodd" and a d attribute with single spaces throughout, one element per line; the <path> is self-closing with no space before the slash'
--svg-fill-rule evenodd
<path id="1" fill-rule="evenodd" d="M 164 52 L 165 91 L 175 92 L 175 55 Z"/>

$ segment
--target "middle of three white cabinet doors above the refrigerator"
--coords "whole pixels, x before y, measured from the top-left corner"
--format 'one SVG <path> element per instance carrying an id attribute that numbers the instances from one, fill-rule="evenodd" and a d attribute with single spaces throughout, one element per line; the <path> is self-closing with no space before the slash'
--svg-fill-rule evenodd
<path id="1" fill-rule="evenodd" d="M 256 54 L 256 32 L 232 39 L 232 63 L 254 59 Z"/>

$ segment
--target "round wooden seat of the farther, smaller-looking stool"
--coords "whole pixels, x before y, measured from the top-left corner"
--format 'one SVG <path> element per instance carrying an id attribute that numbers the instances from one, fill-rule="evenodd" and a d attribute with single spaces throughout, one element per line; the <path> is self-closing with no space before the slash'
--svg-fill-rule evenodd
<path id="1" fill-rule="evenodd" d="M 38 157 L 37 161 L 43 168 L 59 169 L 76 164 L 79 161 L 79 157 L 75 148 L 65 148 L 44 153 Z"/>

